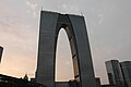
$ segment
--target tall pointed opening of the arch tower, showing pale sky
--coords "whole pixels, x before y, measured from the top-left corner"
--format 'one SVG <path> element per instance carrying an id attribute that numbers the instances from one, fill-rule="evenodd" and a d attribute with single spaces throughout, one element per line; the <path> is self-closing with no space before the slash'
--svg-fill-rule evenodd
<path id="1" fill-rule="evenodd" d="M 63 28 L 60 29 L 57 41 L 55 73 L 56 82 L 68 82 L 70 79 L 74 79 L 70 42 Z"/>

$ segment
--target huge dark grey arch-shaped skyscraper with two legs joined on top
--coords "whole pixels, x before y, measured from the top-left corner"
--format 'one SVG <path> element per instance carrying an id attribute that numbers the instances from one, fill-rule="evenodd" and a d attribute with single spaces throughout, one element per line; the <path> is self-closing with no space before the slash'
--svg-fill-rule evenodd
<path id="1" fill-rule="evenodd" d="M 74 79 L 79 83 L 79 87 L 96 87 L 84 17 L 41 11 L 39 28 L 36 82 L 47 87 L 56 86 L 57 39 L 59 30 L 64 28 L 72 52 Z M 59 86 L 62 87 L 61 84 Z"/>

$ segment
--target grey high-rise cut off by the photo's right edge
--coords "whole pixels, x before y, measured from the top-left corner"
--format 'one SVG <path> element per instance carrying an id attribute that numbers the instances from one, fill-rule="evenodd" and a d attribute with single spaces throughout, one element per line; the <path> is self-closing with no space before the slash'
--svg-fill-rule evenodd
<path id="1" fill-rule="evenodd" d="M 131 87 L 131 61 L 120 62 L 127 87 Z"/>

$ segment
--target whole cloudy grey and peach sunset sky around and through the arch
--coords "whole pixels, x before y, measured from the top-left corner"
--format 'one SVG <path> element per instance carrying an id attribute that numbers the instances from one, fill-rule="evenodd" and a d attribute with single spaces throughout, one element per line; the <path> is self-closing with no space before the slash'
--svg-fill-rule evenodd
<path id="1" fill-rule="evenodd" d="M 105 61 L 131 61 L 131 0 L 0 0 L 0 73 L 35 76 L 40 11 L 85 17 L 95 76 L 107 84 Z M 56 80 L 73 78 L 68 37 L 60 30 Z M 64 66 L 64 67 L 63 67 Z"/>

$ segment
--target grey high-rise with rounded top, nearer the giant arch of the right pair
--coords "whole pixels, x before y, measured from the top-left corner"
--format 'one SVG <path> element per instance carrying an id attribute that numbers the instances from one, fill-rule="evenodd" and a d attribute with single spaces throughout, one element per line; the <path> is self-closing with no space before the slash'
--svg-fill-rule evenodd
<path id="1" fill-rule="evenodd" d="M 124 87 L 124 79 L 122 76 L 122 71 L 119 61 L 118 60 L 106 61 L 106 69 L 109 84 L 116 85 L 118 87 Z"/>

